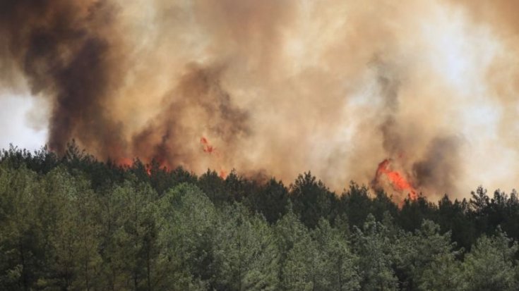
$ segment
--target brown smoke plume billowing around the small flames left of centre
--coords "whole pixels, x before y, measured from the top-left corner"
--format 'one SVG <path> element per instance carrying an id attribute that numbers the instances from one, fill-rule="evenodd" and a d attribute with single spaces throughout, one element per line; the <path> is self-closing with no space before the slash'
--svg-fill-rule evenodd
<path id="1" fill-rule="evenodd" d="M 188 66 L 177 87 L 163 97 L 165 110 L 133 136 L 133 151 L 148 161 L 189 167 L 196 160 L 191 157 L 193 145 L 184 147 L 188 132 L 218 137 L 226 151 L 237 151 L 234 144 L 249 133 L 248 114 L 235 107 L 222 89 L 221 71 Z M 208 152 L 212 151 L 213 147 Z"/>

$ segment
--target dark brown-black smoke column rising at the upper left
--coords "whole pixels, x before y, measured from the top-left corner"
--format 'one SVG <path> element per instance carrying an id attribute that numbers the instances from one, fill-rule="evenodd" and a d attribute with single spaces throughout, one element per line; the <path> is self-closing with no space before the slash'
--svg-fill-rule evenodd
<path id="1" fill-rule="evenodd" d="M 104 110 L 119 79 L 117 35 L 107 37 L 114 12 L 106 1 L 0 2 L 1 61 L 25 75 L 33 95 L 52 102 L 54 151 L 75 138 L 102 158 L 121 154 L 118 126 Z"/>

